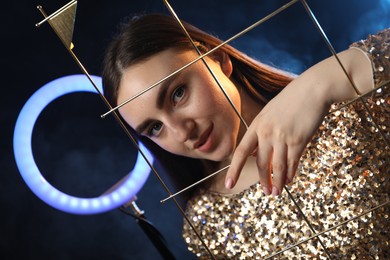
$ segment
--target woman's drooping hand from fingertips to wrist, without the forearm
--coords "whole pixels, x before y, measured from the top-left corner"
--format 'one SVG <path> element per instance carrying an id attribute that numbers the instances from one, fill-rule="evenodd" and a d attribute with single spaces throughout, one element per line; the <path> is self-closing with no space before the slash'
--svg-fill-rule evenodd
<path id="1" fill-rule="evenodd" d="M 259 180 L 266 195 L 279 195 L 283 186 L 291 182 L 304 148 L 329 109 L 325 97 L 314 98 L 315 91 L 298 89 L 297 84 L 289 84 L 250 124 L 234 152 L 226 188 L 234 186 L 251 155 L 256 156 Z"/>

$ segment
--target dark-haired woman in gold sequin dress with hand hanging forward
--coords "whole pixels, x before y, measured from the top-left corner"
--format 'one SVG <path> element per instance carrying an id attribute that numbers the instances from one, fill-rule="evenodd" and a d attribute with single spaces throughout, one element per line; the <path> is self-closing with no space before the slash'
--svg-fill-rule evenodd
<path id="1" fill-rule="evenodd" d="M 200 52 L 220 44 L 185 26 Z M 134 18 L 107 51 L 104 93 L 115 106 L 198 56 L 172 18 Z M 389 30 L 338 56 L 356 90 L 333 57 L 294 78 L 224 45 L 119 109 L 179 184 L 230 164 L 185 198 L 208 248 L 185 223 L 198 257 L 269 256 L 389 201 L 387 88 L 367 98 L 385 136 L 359 102 L 327 115 L 390 79 Z M 381 207 L 282 256 L 389 257 L 388 214 Z"/>

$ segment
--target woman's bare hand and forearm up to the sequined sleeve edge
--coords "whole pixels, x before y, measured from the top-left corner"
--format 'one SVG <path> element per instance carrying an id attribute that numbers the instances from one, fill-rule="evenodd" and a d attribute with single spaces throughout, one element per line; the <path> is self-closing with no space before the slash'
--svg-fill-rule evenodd
<path id="1" fill-rule="evenodd" d="M 359 52 L 359 53 L 358 53 Z M 369 61 L 358 50 L 339 54 L 356 85 L 372 87 Z M 365 70 L 364 73 L 358 73 Z M 356 96 L 335 58 L 313 66 L 293 80 L 255 117 L 237 146 L 225 179 L 233 188 L 249 156 L 256 156 L 259 180 L 266 195 L 279 195 L 292 181 L 300 157 L 331 103 Z"/>

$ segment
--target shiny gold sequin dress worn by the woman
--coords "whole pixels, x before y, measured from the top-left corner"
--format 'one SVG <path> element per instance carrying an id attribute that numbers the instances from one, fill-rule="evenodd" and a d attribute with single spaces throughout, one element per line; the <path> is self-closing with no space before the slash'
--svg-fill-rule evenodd
<path id="1" fill-rule="evenodd" d="M 351 45 L 371 59 L 376 89 L 332 106 L 288 192 L 199 189 L 188 201 L 186 215 L 215 258 L 390 259 L 389 36 Z M 197 257 L 211 258 L 186 222 L 183 237 Z"/>

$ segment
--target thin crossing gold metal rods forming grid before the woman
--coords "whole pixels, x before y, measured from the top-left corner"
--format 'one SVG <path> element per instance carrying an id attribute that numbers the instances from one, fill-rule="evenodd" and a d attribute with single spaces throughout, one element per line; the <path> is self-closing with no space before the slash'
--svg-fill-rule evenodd
<path id="1" fill-rule="evenodd" d="M 365 94 L 365 95 L 362 95 L 362 94 L 358 91 L 358 88 L 355 86 L 355 84 L 354 84 L 353 81 L 351 80 L 351 78 L 350 78 L 350 76 L 348 75 L 348 73 L 346 72 L 346 70 L 345 70 L 343 64 L 341 63 L 341 61 L 339 60 L 339 58 L 338 58 L 338 56 L 337 56 L 337 54 L 336 54 L 336 52 L 335 52 L 335 50 L 334 50 L 334 48 L 333 48 L 331 42 L 329 41 L 329 39 L 328 39 L 327 35 L 325 34 L 324 30 L 322 29 L 320 23 L 317 21 L 317 19 L 316 19 L 314 13 L 312 12 L 310 6 L 307 4 L 307 2 L 306 2 L 305 0 L 291 0 L 291 1 L 288 2 L 287 4 L 281 6 L 281 7 L 280 7 L 279 9 L 277 9 L 276 11 L 274 11 L 274 12 L 268 14 L 267 16 L 265 16 L 264 18 L 258 20 L 257 22 L 255 22 L 254 24 L 252 24 L 251 26 L 249 26 L 248 28 L 246 28 L 245 30 L 243 30 L 243 31 L 239 32 L 238 34 L 232 36 L 232 37 L 229 38 L 228 40 L 224 41 L 221 45 L 219 45 L 219 46 L 217 46 L 216 48 L 214 48 L 214 49 L 208 51 L 208 52 L 205 53 L 205 54 L 201 54 L 200 51 L 197 49 L 197 47 L 196 47 L 196 45 L 194 44 L 194 42 L 192 41 L 190 35 L 187 33 L 187 31 L 185 30 L 184 26 L 182 25 L 180 18 L 176 15 L 174 9 L 171 7 L 171 5 L 169 4 L 169 2 L 168 2 L 167 0 L 163 0 L 163 1 L 164 1 L 164 4 L 167 6 L 168 10 L 170 11 L 170 13 L 172 14 L 172 16 L 173 16 L 173 17 L 176 19 L 176 21 L 178 22 L 178 25 L 180 25 L 180 26 L 182 27 L 183 33 L 186 34 L 186 36 L 188 37 L 188 39 L 192 42 L 194 49 L 195 49 L 195 50 L 198 52 L 198 54 L 199 54 L 199 57 L 198 57 L 197 59 L 193 60 L 192 62 L 190 62 L 189 64 L 185 65 L 184 67 L 180 68 L 179 70 L 177 70 L 177 71 L 173 72 L 172 74 L 168 75 L 167 77 L 165 77 L 165 78 L 161 79 L 160 81 L 156 82 L 155 84 L 153 84 L 152 86 L 148 87 L 147 89 L 145 89 L 145 90 L 142 91 L 141 93 L 138 93 L 137 95 L 135 95 L 135 96 L 129 98 L 129 99 L 126 100 L 125 102 L 119 104 L 119 105 L 116 106 L 116 107 L 111 107 L 110 104 L 107 102 L 107 100 L 105 100 L 104 96 L 103 96 L 101 93 L 99 93 L 99 94 L 101 95 L 103 101 L 106 103 L 107 107 L 109 108 L 109 111 L 108 111 L 107 113 L 103 114 L 102 117 L 104 118 L 104 117 L 107 116 L 108 114 L 113 113 L 113 114 L 115 115 L 115 117 L 117 118 L 117 120 L 120 121 L 120 124 L 121 124 L 122 128 L 124 129 L 124 131 L 127 133 L 128 137 L 132 140 L 132 142 L 134 143 L 134 145 L 136 146 L 136 148 L 139 150 L 139 152 L 141 153 L 141 155 L 145 158 L 145 160 L 146 160 L 147 162 L 148 162 L 148 160 L 147 160 L 147 158 L 145 157 L 145 155 L 143 154 L 143 152 L 142 152 L 142 150 L 140 149 L 140 147 L 138 146 L 138 144 L 137 144 L 135 138 L 129 133 L 129 131 L 127 130 L 125 124 L 121 121 L 120 117 L 118 116 L 117 110 L 118 110 L 120 107 L 122 107 L 122 106 L 126 105 L 127 103 L 131 102 L 131 101 L 134 100 L 135 98 L 139 97 L 140 95 L 142 95 L 142 94 L 146 93 L 147 91 L 153 89 L 154 87 L 158 86 L 160 83 L 162 83 L 163 81 L 167 80 L 169 77 L 175 75 L 176 73 L 180 72 L 181 70 L 187 68 L 188 66 L 192 65 L 193 63 L 195 63 L 195 62 L 197 62 L 197 61 L 199 61 L 199 60 L 202 60 L 202 61 L 205 63 L 205 65 L 206 65 L 207 68 L 209 69 L 210 73 L 213 75 L 211 69 L 208 67 L 206 61 L 203 59 L 204 57 L 206 57 L 206 56 L 209 55 L 210 53 L 214 52 L 215 50 L 217 50 L 218 48 L 220 48 L 222 45 L 227 44 L 227 43 L 233 41 L 234 39 L 236 39 L 236 38 L 242 36 L 242 35 L 245 34 L 246 32 L 252 30 L 252 29 L 255 28 L 256 26 L 258 26 L 258 25 L 262 24 L 263 22 L 267 21 L 268 19 L 271 19 L 272 17 L 276 16 L 277 14 L 279 14 L 280 12 L 282 12 L 283 10 L 288 9 L 289 7 L 293 6 L 294 4 L 298 4 L 298 3 L 300 3 L 300 4 L 303 6 L 303 8 L 305 9 L 307 15 L 308 15 L 308 16 L 310 17 L 310 19 L 312 20 L 313 25 L 315 26 L 315 28 L 317 29 L 318 33 L 321 35 L 321 37 L 322 37 L 324 43 L 325 43 L 326 46 L 328 47 L 330 53 L 336 58 L 336 60 L 338 61 L 339 66 L 340 66 L 341 69 L 344 71 L 346 77 L 348 77 L 348 79 L 349 79 L 349 81 L 350 81 L 350 83 L 351 83 L 351 87 L 354 88 L 356 94 L 358 95 L 358 97 L 357 97 L 356 99 L 354 99 L 354 100 L 352 100 L 352 101 L 350 101 L 350 102 L 344 104 L 344 106 L 347 106 L 347 105 L 349 105 L 349 104 L 351 104 L 351 103 L 353 103 L 353 102 L 361 102 L 361 103 L 363 104 L 363 106 L 364 106 L 364 109 L 365 109 L 366 113 L 368 114 L 368 117 L 371 118 L 373 125 L 375 126 L 376 130 L 380 133 L 380 135 L 381 135 L 381 137 L 382 137 L 382 139 L 383 139 L 383 142 L 385 143 L 386 146 L 389 146 L 388 140 L 386 139 L 386 137 L 385 137 L 384 133 L 382 132 L 382 130 L 380 129 L 380 127 L 378 126 L 377 122 L 375 122 L 375 119 L 372 117 L 372 111 L 370 110 L 370 108 L 368 107 L 368 105 L 367 105 L 367 103 L 366 103 L 366 101 L 365 101 L 365 96 L 366 96 L 366 95 L 369 95 L 370 93 L 375 92 L 375 91 L 377 91 L 378 89 L 384 87 L 386 84 L 388 84 L 388 82 L 385 83 L 385 84 L 383 84 L 382 86 L 379 86 L 379 87 L 373 89 L 370 93 L 367 93 L 367 94 Z M 71 48 L 68 49 L 68 50 L 70 51 L 72 57 L 73 57 L 73 58 L 77 61 L 77 63 L 80 65 L 80 68 L 82 69 L 82 71 L 83 71 L 87 76 L 89 76 L 88 72 L 87 72 L 86 69 L 81 65 L 81 63 L 78 61 L 77 57 L 76 57 L 76 56 L 74 55 L 74 53 L 72 52 Z M 213 76 L 213 77 L 215 78 L 215 76 Z M 219 84 L 218 80 L 217 80 L 216 78 L 215 78 L 215 80 L 217 81 L 218 85 L 220 86 L 221 90 L 223 91 L 223 87 Z M 91 80 L 91 82 L 93 83 L 92 80 Z M 228 99 L 228 100 L 229 100 L 229 99 Z M 229 102 L 230 102 L 230 104 L 233 106 L 233 104 L 232 104 L 232 102 L 231 102 L 230 100 L 229 100 Z M 233 106 L 233 107 L 234 107 L 234 106 Z M 341 107 L 339 107 L 339 108 L 341 108 Z M 339 108 L 337 108 L 337 109 L 335 109 L 335 110 L 333 110 L 333 111 L 330 111 L 330 113 L 333 113 L 334 111 L 338 110 Z M 237 115 L 240 117 L 240 119 L 243 121 L 243 119 L 241 118 L 241 115 L 237 112 L 237 110 L 236 110 L 236 109 L 234 109 L 234 110 L 236 111 L 236 113 L 237 113 Z M 247 124 L 246 124 L 244 121 L 243 121 L 243 123 L 245 124 L 245 126 L 247 126 Z M 153 165 L 152 165 L 151 163 L 149 163 L 149 162 L 148 162 L 148 164 L 149 164 L 149 166 L 150 166 L 152 172 L 155 174 L 155 176 L 158 178 L 158 180 L 160 181 L 160 183 L 162 184 L 162 186 L 165 188 L 165 190 L 166 190 L 167 193 L 169 194 L 169 197 L 168 197 L 167 199 L 172 199 L 172 200 L 175 202 L 177 208 L 179 209 L 179 211 L 181 212 L 181 214 L 183 215 L 183 217 L 185 218 L 185 220 L 186 220 L 186 221 L 189 223 L 189 225 L 193 228 L 193 230 L 195 231 L 195 233 L 197 234 L 197 236 L 199 237 L 199 239 L 202 241 L 203 245 L 206 247 L 206 250 L 209 252 L 210 257 L 211 257 L 211 258 L 215 258 L 215 257 L 213 256 L 213 254 L 211 253 L 211 251 L 207 248 L 206 244 L 203 242 L 202 237 L 200 236 L 200 234 L 196 231 L 196 229 L 194 228 L 194 226 L 191 224 L 191 221 L 186 217 L 186 215 L 185 215 L 185 213 L 184 213 L 184 210 L 180 207 L 179 203 L 178 203 L 178 202 L 176 201 L 176 199 L 175 199 L 175 196 L 176 196 L 177 194 L 179 194 L 180 192 L 184 191 L 185 189 L 182 190 L 182 191 L 179 191 L 179 192 L 177 192 L 177 193 L 175 193 L 175 194 L 172 194 L 172 192 L 169 190 L 169 188 L 167 187 L 167 185 L 164 183 L 164 181 L 163 181 L 162 178 L 160 177 L 159 173 L 154 169 Z M 224 168 L 224 169 L 226 169 L 226 168 Z M 217 171 L 217 172 L 211 174 L 209 177 L 212 177 L 212 176 L 214 176 L 215 174 L 218 174 L 219 172 L 223 171 L 224 169 L 220 169 L 219 171 Z M 194 185 L 197 185 L 197 184 L 199 184 L 199 183 L 202 182 L 202 181 L 205 181 L 205 180 L 208 179 L 209 177 L 207 177 L 207 178 L 205 178 L 205 179 L 203 179 L 203 180 L 200 180 L 200 181 L 197 182 L 197 183 L 194 183 L 194 184 L 191 185 L 190 187 L 192 187 L 192 186 L 194 186 Z M 386 181 L 387 181 L 387 180 L 386 180 Z M 361 214 L 359 214 L 359 215 L 357 215 L 357 216 L 354 216 L 354 217 L 351 217 L 351 218 L 349 218 L 349 219 L 347 219 L 347 220 L 342 221 L 342 222 L 339 223 L 338 225 L 335 225 L 335 226 L 332 226 L 332 227 L 330 227 L 330 228 L 327 228 L 326 230 L 321 231 L 321 232 L 316 232 L 316 230 L 312 227 L 312 223 L 310 223 L 309 219 L 305 216 L 304 210 L 299 206 L 299 203 L 295 200 L 294 196 L 290 193 L 289 189 L 285 187 L 285 191 L 287 192 L 287 194 L 288 194 L 289 198 L 291 199 L 291 201 L 295 204 L 297 210 L 298 210 L 298 211 L 300 212 L 300 214 L 303 216 L 304 221 L 305 221 L 306 224 L 309 226 L 309 228 L 310 228 L 310 230 L 312 231 L 313 235 L 311 235 L 309 238 L 302 239 L 302 240 L 298 241 L 296 244 L 291 245 L 291 246 L 288 246 L 288 247 L 284 248 L 284 249 L 281 250 L 281 251 L 278 251 L 278 252 L 275 252 L 275 253 L 269 255 L 266 259 L 268 259 L 268 258 L 273 258 L 273 257 L 277 257 L 277 256 L 279 256 L 280 254 L 282 254 L 283 252 L 288 251 L 288 250 L 291 250 L 291 249 L 293 249 L 294 247 L 297 247 L 297 246 L 299 246 L 299 245 L 301 245 L 301 244 L 303 244 L 303 243 L 306 243 L 306 242 L 308 242 L 308 241 L 310 241 L 310 240 L 312 240 L 312 239 L 318 239 L 319 243 L 321 244 L 321 247 L 322 247 L 323 250 L 325 251 L 325 253 L 326 253 L 326 255 L 328 256 L 328 258 L 332 258 L 332 257 L 331 257 L 331 254 L 330 254 L 330 253 L 327 251 L 327 249 L 326 249 L 326 245 L 325 245 L 325 244 L 323 243 L 323 241 L 321 240 L 321 238 L 322 238 L 323 236 L 325 236 L 328 232 L 331 232 L 331 231 L 333 231 L 333 230 L 335 230 L 335 229 L 337 229 L 337 228 L 339 228 L 339 227 L 341 227 L 341 226 L 347 225 L 347 224 L 348 224 L 349 222 L 351 222 L 351 221 L 360 219 L 360 218 L 366 216 L 367 214 L 371 214 L 371 213 L 373 213 L 373 212 L 375 212 L 375 211 L 377 211 L 377 210 L 379 210 L 379 209 L 383 209 L 383 208 L 385 208 L 385 207 L 388 207 L 389 204 L 390 204 L 390 201 L 387 200 L 387 201 L 381 203 L 380 205 L 377 205 L 377 206 L 375 206 L 375 207 L 372 207 L 372 208 L 370 208 L 370 209 L 368 209 L 368 210 L 362 212 Z M 167 199 L 162 200 L 162 202 L 166 201 Z"/>

